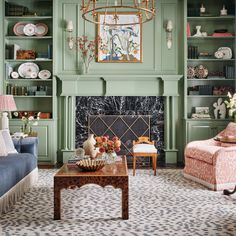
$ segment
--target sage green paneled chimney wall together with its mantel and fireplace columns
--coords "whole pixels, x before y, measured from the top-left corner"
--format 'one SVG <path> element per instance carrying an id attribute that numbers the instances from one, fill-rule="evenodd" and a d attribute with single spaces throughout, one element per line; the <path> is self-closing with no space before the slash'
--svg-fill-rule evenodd
<path id="1" fill-rule="evenodd" d="M 181 4 L 181 6 L 179 6 Z M 67 43 L 66 22 L 73 21 L 73 36 L 87 35 L 89 39 L 96 36 L 96 25 L 84 22 L 81 18 L 80 4 L 75 0 L 59 0 L 57 5 L 56 32 L 56 75 L 59 78 L 58 95 L 59 100 L 59 149 L 63 156 L 70 155 L 70 123 L 73 117 L 67 113 L 71 96 L 178 96 L 179 95 L 179 72 L 183 66 L 178 60 L 182 57 L 182 41 L 178 36 L 183 32 L 178 24 L 182 19 L 178 9 L 183 8 L 182 1 L 161 0 L 156 1 L 157 14 L 153 21 L 143 25 L 143 62 L 142 63 L 97 63 L 92 62 L 89 73 L 82 74 L 80 54 L 76 49 L 69 50 Z M 172 20 L 174 30 L 172 33 L 173 46 L 168 50 L 166 45 L 166 23 Z M 180 45 L 181 44 L 181 45 Z M 173 77 L 171 77 L 173 75 Z M 164 80 L 162 80 L 164 78 Z M 169 79 L 170 80 L 169 80 Z M 173 81 L 172 81 L 173 80 Z M 176 82 L 175 82 L 176 80 Z M 165 83 L 164 83 L 165 81 Z M 164 86 L 165 84 L 165 86 Z M 164 87 L 163 87 L 164 86 Z M 174 118 L 167 117 L 167 156 L 169 163 L 176 163 L 176 153 L 181 149 L 181 143 L 176 146 L 176 128 L 182 128 L 181 102 L 179 98 L 167 98 L 170 103 L 168 110 Z M 172 113 L 175 114 L 172 114 Z M 69 124 L 68 124 L 69 122 Z M 71 133 L 68 135 L 68 133 Z M 173 137 L 171 137 L 171 135 Z M 180 152 L 181 153 L 181 152 Z M 60 158 L 62 159 L 62 158 Z M 178 157 L 182 161 L 182 154 Z"/>

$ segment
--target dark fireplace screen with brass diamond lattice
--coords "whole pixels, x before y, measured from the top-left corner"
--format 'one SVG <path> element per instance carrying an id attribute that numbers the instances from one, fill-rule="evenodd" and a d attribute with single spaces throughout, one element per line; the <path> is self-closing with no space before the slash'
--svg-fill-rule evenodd
<path id="1" fill-rule="evenodd" d="M 88 132 L 95 136 L 117 136 L 121 140 L 120 155 L 131 155 L 133 140 L 140 136 L 150 138 L 149 115 L 91 115 Z"/>

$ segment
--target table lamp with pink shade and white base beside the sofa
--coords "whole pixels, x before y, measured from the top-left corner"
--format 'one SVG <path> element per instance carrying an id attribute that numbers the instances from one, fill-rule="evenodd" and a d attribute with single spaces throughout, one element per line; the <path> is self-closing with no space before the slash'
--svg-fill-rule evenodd
<path id="1" fill-rule="evenodd" d="M 9 129 L 9 111 L 16 111 L 13 95 L 0 95 L 0 129 Z"/>

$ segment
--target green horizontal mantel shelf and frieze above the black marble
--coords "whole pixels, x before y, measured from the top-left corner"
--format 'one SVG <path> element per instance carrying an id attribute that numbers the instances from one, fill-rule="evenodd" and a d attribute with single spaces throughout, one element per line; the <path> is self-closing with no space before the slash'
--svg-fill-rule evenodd
<path id="1" fill-rule="evenodd" d="M 178 96 L 182 75 L 62 75 L 59 96 Z"/>

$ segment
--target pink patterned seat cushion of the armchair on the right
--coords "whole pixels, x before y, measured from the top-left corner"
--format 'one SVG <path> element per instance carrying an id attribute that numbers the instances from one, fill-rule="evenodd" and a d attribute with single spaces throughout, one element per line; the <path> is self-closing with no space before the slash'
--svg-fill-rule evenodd
<path id="1" fill-rule="evenodd" d="M 185 148 L 185 156 L 213 164 L 214 154 L 222 148 L 221 146 L 204 145 L 202 141 L 194 141 Z"/>

